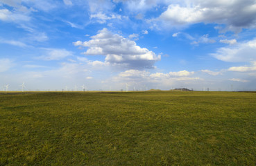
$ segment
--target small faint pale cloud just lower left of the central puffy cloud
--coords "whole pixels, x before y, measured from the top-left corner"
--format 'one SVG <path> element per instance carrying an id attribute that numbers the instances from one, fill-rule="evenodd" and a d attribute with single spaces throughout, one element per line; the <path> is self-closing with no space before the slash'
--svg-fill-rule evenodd
<path id="1" fill-rule="evenodd" d="M 73 55 L 73 53 L 71 53 L 70 51 L 65 50 L 65 49 L 43 48 L 43 50 L 44 50 L 44 55 L 42 55 L 41 57 L 38 57 L 38 58 L 47 60 L 47 61 L 60 60 L 65 57 Z"/>

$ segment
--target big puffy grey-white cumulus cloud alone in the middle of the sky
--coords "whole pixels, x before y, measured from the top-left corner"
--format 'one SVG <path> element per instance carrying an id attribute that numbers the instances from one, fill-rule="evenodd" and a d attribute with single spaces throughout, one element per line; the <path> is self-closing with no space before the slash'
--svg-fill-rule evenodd
<path id="1" fill-rule="evenodd" d="M 105 62 L 122 68 L 154 68 L 153 64 L 161 59 L 147 48 L 137 46 L 136 42 L 121 35 L 111 33 L 107 28 L 85 42 L 74 42 L 75 46 L 87 47 L 85 55 L 104 55 Z"/>

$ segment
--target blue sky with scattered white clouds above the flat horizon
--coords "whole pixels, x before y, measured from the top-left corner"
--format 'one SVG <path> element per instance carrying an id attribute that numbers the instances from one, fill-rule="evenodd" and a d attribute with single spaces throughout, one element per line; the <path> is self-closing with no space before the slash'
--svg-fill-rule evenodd
<path id="1" fill-rule="evenodd" d="M 255 0 L 0 0 L 0 91 L 256 91 L 255 16 Z"/>

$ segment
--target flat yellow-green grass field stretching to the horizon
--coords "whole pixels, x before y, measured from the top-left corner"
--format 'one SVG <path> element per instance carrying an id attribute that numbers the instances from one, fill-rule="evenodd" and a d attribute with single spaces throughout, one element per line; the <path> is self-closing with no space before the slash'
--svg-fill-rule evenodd
<path id="1" fill-rule="evenodd" d="M 0 93 L 0 165 L 256 165 L 256 93 Z"/>

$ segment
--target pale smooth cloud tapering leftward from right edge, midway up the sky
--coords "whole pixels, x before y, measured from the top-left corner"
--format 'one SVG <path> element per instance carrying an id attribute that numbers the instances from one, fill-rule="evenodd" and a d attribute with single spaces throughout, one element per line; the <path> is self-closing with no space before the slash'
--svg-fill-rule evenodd
<path id="1" fill-rule="evenodd" d="M 225 62 L 254 62 L 256 61 L 256 39 L 238 43 L 234 46 L 218 48 L 211 55 Z"/>

